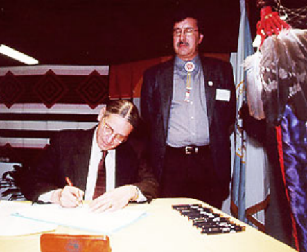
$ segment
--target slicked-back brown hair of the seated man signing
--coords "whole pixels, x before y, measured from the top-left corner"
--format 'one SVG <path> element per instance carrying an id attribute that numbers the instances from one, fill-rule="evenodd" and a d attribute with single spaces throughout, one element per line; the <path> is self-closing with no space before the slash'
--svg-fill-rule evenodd
<path id="1" fill-rule="evenodd" d="M 113 100 L 107 103 L 105 116 L 109 116 L 110 114 L 117 114 L 125 118 L 134 129 L 139 125 L 139 111 L 129 100 Z"/>

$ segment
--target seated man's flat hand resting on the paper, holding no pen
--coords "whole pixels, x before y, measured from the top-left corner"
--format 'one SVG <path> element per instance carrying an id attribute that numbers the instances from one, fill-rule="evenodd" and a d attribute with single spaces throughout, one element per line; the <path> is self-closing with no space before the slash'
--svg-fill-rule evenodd
<path id="1" fill-rule="evenodd" d="M 89 204 L 89 209 L 96 213 L 119 210 L 127 206 L 129 201 L 135 199 L 136 197 L 136 186 L 121 186 L 109 192 L 105 192 L 100 197 L 94 199 L 94 201 Z"/>

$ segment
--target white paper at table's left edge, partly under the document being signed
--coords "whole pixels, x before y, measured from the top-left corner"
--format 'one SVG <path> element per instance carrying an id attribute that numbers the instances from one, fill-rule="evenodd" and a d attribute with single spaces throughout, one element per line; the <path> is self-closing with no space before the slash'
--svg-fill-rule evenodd
<path id="1" fill-rule="evenodd" d="M 12 216 L 15 211 L 26 208 L 31 208 L 31 205 L 18 201 L 0 201 L 0 236 L 29 235 L 53 231 L 57 228 L 57 224 Z"/>

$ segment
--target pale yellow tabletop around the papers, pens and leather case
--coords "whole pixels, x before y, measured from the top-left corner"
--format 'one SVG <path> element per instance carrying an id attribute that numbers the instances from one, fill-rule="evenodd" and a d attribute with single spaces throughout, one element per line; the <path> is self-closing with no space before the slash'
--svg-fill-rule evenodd
<path id="1" fill-rule="evenodd" d="M 203 235 L 199 229 L 192 226 L 191 221 L 172 209 L 173 204 L 208 206 L 202 201 L 186 198 L 155 199 L 150 204 L 129 204 L 128 208 L 146 210 L 148 216 L 110 235 L 112 252 L 295 252 L 290 246 L 234 218 L 234 222 L 246 226 L 245 231 Z M 222 213 L 219 210 L 216 212 Z M 227 216 L 224 213 L 223 215 Z M 53 233 L 89 234 L 62 226 Z M 40 234 L 0 237 L 0 251 L 39 252 Z"/>

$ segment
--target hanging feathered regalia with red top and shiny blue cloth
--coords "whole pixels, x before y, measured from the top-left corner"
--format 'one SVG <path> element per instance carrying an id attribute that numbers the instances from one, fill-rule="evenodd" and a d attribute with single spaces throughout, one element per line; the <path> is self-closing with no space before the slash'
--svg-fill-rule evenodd
<path id="1" fill-rule="evenodd" d="M 275 126 L 295 246 L 307 251 L 307 30 L 291 28 L 270 6 L 257 26 L 261 45 L 245 60 L 247 103 L 251 116 Z"/>

